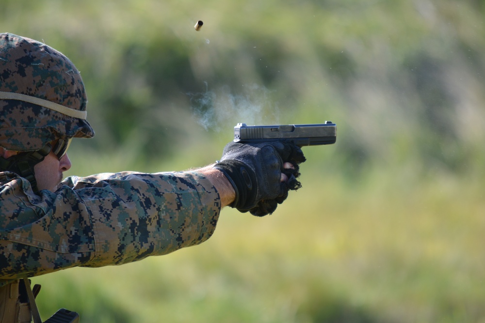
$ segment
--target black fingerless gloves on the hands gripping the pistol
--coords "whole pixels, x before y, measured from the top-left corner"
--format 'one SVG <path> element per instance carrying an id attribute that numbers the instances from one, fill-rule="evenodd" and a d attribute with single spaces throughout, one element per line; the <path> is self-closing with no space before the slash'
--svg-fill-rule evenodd
<path id="1" fill-rule="evenodd" d="M 301 187 L 296 177 L 300 174 L 299 164 L 305 160 L 300 147 L 288 142 L 230 142 L 214 168 L 223 171 L 234 187 L 236 198 L 231 207 L 263 216 L 275 212 L 276 206 L 288 197 L 288 190 Z M 294 169 L 284 169 L 285 162 Z M 281 182 L 281 173 L 289 180 Z"/>

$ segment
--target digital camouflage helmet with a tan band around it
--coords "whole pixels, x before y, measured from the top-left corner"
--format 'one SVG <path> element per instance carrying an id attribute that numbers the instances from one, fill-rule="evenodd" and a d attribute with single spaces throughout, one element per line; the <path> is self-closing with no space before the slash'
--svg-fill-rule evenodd
<path id="1" fill-rule="evenodd" d="M 35 40 L 0 33 L 0 146 L 36 151 L 56 138 L 91 138 L 74 64 Z"/>

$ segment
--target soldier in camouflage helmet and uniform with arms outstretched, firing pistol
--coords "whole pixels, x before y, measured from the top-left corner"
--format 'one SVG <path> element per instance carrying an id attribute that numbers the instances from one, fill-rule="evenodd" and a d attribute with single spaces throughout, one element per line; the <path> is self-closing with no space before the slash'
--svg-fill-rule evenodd
<path id="1" fill-rule="evenodd" d="M 0 34 L 1 323 L 32 320 L 23 278 L 200 244 L 222 207 L 271 214 L 299 185 L 305 157 L 286 143 L 229 143 L 219 162 L 191 171 L 63 180 L 72 138 L 94 136 L 86 103 L 81 75 L 63 54 Z"/>

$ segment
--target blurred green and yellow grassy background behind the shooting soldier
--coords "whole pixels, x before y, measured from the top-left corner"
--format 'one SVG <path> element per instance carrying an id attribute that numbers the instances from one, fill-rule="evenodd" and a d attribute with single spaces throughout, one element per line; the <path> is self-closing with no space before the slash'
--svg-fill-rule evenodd
<path id="1" fill-rule="evenodd" d="M 183 170 L 236 123 L 338 124 L 274 215 L 34 278 L 81 322 L 485 322 L 485 1 L 3 0 L 81 71 L 97 136 L 66 175 Z M 204 25 L 194 30 L 197 20 Z"/>

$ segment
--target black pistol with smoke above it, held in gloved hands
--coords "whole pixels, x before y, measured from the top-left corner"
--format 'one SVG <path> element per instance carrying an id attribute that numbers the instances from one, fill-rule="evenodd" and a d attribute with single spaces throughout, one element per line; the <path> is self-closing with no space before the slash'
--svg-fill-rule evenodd
<path id="1" fill-rule="evenodd" d="M 234 127 L 234 142 L 288 141 L 296 146 L 329 145 L 337 140 L 337 125 L 331 121 L 321 124 L 246 125 Z"/>

